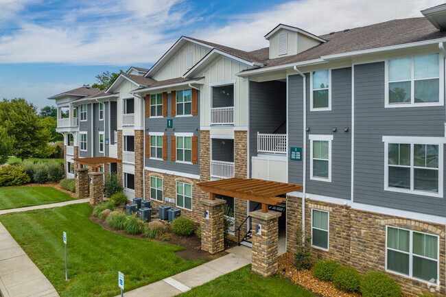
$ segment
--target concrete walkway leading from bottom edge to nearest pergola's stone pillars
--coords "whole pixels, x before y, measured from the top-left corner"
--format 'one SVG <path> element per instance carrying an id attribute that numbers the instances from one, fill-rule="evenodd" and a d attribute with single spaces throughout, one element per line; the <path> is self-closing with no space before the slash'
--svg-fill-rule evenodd
<path id="1" fill-rule="evenodd" d="M 208 283 L 219 276 L 233 272 L 251 263 L 251 249 L 237 246 L 226 250 L 229 254 L 196 268 L 151 283 L 144 287 L 125 292 L 126 297 L 172 297 Z M 117 296 L 117 297 L 120 297 Z"/>

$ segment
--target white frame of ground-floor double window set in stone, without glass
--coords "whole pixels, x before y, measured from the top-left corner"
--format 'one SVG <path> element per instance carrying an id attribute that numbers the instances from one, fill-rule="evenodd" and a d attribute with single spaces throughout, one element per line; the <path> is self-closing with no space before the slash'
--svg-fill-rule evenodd
<path id="1" fill-rule="evenodd" d="M 395 250 L 394 248 L 388 248 L 388 246 L 387 246 L 387 243 L 388 243 L 388 228 L 395 228 L 395 229 L 399 229 L 399 230 L 406 230 L 406 231 L 409 232 L 409 252 L 403 252 L 402 250 Z M 434 261 L 434 259 L 432 259 L 432 258 L 423 257 L 423 256 L 420 256 L 419 254 L 414 254 L 412 252 L 412 248 L 413 248 L 413 233 L 414 232 L 420 233 L 420 234 L 434 236 L 434 237 L 437 238 L 437 240 L 436 240 L 436 243 L 437 243 L 437 257 L 436 257 L 437 258 L 436 259 L 436 262 L 437 262 L 437 265 L 436 265 L 437 281 L 436 281 L 436 283 L 431 283 L 430 281 L 425 281 L 425 280 L 423 280 L 421 278 L 416 278 L 416 277 L 412 276 L 412 273 L 413 273 L 412 272 L 412 270 L 413 270 L 412 259 L 413 259 L 414 255 L 415 255 L 415 257 L 429 259 L 429 260 Z M 401 272 L 396 272 L 396 271 L 387 269 L 387 250 L 393 250 L 395 252 L 401 252 L 403 254 L 408 254 L 409 255 L 409 275 L 402 274 Z M 440 278 L 441 278 L 441 276 L 440 276 L 440 237 L 438 235 L 435 235 L 435 234 L 419 232 L 419 231 L 416 231 L 416 230 L 409 230 L 409 229 L 405 229 L 405 228 L 399 228 L 399 227 L 395 227 L 395 226 L 388 226 L 388 225 L 386 225 L 386 272 L 390 272 L 392 274 L 398 274 L 398 275 L 404 276 L 406 278 L 412 278 L 412 279 L 415 279 L 416 281 L 421 281 L 421 282 L 427 283 L 427 284 L 440 285 Z"/>

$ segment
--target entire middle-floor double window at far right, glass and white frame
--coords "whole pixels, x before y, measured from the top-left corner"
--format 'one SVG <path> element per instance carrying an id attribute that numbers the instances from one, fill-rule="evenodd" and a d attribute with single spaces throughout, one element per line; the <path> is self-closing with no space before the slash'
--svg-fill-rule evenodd
<path id="1" fill-rule="evenodd" d="M 384 136 L 388 191 L 443 197 L 443 143 L 430 137 Z"/>

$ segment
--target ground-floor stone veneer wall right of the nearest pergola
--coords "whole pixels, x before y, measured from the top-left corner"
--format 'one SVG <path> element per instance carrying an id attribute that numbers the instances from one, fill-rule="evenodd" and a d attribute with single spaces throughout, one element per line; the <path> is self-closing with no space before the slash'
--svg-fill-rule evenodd
<path id="1" fill-rule="evenodd" d="M 301 198 L 287 197 L 287 251 L 296 252 L 296 228 L 302 228 Z M 336 260 L 361 273 L 369 270 L 386 272 L 386 226 L 395 226 L 440 237 L 440 292 L 445 294 L 445 226 L 351 209 L 350 206 L 305 200 L 305 236 L 311 237 L 312 209 L 329 211 L 329 250 L 312 248 L 318 259 Z M 399 282 L 404 294 L 419 295 L 429 292 L 423 281 L 387 272 Z"/>

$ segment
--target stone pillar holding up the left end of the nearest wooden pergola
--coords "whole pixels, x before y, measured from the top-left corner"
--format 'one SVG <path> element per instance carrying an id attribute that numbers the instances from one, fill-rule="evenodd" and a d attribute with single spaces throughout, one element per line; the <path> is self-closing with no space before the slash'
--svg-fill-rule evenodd
<path id="1" fill-rule="evenodd" d="M 201 249 L 211 254 L 224 250 L 224 204 L 222 199 L 203 199 L 200 201 L 209 218 L 201 224 Z M 204 215 L 204 213 L 203 213 Z"/>

